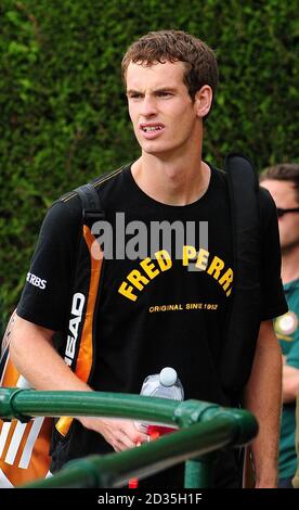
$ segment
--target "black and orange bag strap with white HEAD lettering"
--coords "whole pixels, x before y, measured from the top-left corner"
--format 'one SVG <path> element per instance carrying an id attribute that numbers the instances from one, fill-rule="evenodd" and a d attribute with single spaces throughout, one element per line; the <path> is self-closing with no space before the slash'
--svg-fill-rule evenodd
<path id="1" fill-rule="evenodd" d="M 70 317 L 67 329 L 67 342 L 64 345 L 65 362 L 76 375 L 89 382 L 95 352 L 93 317 L 99 304 L 98 293 L 103 269 L 103 257 L 92 253 L 92 226 L 105 218 L 100 196 L 93 182 L 80 186 L 74 193 L 78 194 L 82 206 L 81 230 L 76 254 L 76 265 L 69 306 Z M 75 314 L 75 315 L 74 315 Z M 61 417 L 55 428 L 65 436 L 74 418 Z"/>

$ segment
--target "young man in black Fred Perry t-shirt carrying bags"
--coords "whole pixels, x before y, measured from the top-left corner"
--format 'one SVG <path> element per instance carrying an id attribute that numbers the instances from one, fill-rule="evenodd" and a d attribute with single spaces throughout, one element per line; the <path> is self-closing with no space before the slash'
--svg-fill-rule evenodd
<path id="1" fill-rule="evenodd" d="M 100 179 L 95 187 L 116 240 L 110 243 L 114 256 L 104 254 L 93 372 L 88 384 L 82 382 L 51 345 L 53 332 L 63 329 L 68 314 L 74 246 L 81 217 L 76 196 L 55 204 L 44 220 L 29 281 L 17 308 L 11 341 L 13 360 L 39 390 L 129 393 L 139 393 L 146 375 L 170 366 L 182 381 L 185 398 L 235 404 L 219 380 L 233 289 L 226 177 L 202 161 L 203 124 L 218 82 L 214 54 L 203 41 L 182 31 L 150 33 L 127 51 L 122 74 L 141 156 L 132 165 Z M 265 297 L 244 405 L 260 423 L 252 445 L 257 487 L 273 487 L 281 356 L 272 319 L 286 311 L 286 306 L 280 282 L 275 211 L 264 193 L 261 206 L 262 230 L 269 231 L 268 237 L 263 233 L 266 243 L 261 254 L 268 263 L 262 281 Z M 120 254 L 116 247 L 117 212 L 122 213 L 130 234 Z M 199 239 L 199 220 L 208 221 L 208 245 Z M 143 229 L 142 242 L 132 238 L 136 221 Z M 185 234 L 183 239 L 178 235 L 174 252 L 172 227 L 167 232 L 168 242 L 160 239 L 160 231 L 153 233 L 164 221 L 170 227 L 179 221 L 185 233 L 187 227 L 195 226 L 194 239 L 185 241 Z M 31 284 L 31 275 L 44 281 L 44 289 Z M 74 307 L 80 308 L 77 302 Z M 37 356 L 42 365 L 36 362 Z M 62 432 L 60 428 L 58 431 Z M 68 432 L 68 441 L 62 439 L 58 431 L 52 454 L 54 470 L 72 458 L 112 448 L 119 451 L 146 441 L 146 435 L 130 421 L 79 418 Z M 223 457 L 216 483 L 236 486 L 234 456 L 231 452 Z M 150 486 L 180 486 L 180 469 L 170 473 L 169 479 L 167 473 L 152 479 Z"/>

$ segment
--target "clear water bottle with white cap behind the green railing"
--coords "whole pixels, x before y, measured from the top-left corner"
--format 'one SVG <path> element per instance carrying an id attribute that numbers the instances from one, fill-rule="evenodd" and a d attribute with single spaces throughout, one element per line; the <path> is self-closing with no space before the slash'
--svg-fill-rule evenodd
<path id="1" fill-rule="evenodd" d="M 184 390 L 176 370 L 171 367 L 165 367 L 160 373 L 154 373 L 145 378 L 141 395 L 169 398 L 172 400 L 183 400 Z M 165 426 L 150 423 L 136 423 L 138 429 L 145 434 L 148 434 L 152 438 L 157 437 L 168 432 L 173 432 L 176 429 L 172 426 Z"/>

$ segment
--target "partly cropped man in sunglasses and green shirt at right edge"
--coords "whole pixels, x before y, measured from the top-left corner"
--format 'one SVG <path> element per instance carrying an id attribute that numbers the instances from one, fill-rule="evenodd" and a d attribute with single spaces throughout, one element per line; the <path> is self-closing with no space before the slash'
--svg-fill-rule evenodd
<path id="1" fill-rule="evenodd" d="M 275 320 L 283 352 L 283 415 L 278 487 L 291 487 L 296 470 L 295 407 L 299 393 L 299 165 L 282 163 L 265 168 L 261 186 L 277 207 L 282 247 L 282 278 L 289 311 Z"/>

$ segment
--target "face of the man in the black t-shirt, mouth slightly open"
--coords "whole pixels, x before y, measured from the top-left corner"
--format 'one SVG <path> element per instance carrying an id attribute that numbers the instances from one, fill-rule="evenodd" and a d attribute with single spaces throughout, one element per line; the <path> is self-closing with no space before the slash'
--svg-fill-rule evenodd
<path id="1" fill-rule="evenodd" d="M 135 137 L 143 153 L 184 153 L 198 140 L 199 118 L 183 82 L 184 64 L 128 66 L 127 97 Z M 198 141 L 197 141 L 198 140 Z"/>

